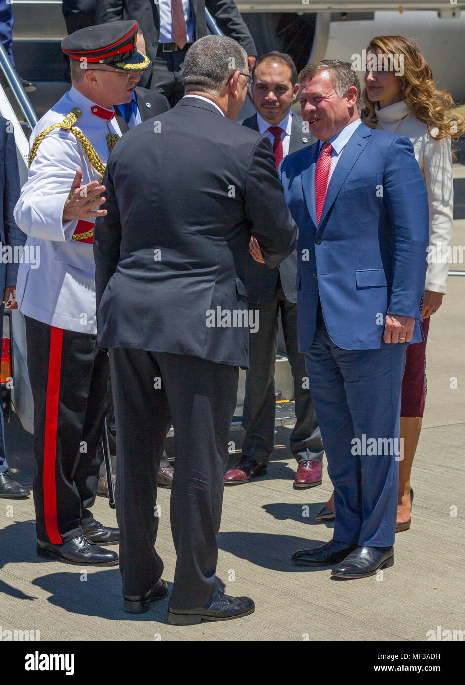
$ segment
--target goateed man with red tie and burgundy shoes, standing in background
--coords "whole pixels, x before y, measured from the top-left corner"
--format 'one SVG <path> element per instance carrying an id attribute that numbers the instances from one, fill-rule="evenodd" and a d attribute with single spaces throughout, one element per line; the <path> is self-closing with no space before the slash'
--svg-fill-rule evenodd
<path id="1" fill-rule="evenodd" d="M 273 145 L 276 168 L 285 155 L 315 142 L 302 125 L 302 117 L 291 112 L 299 85 L 294 61 L 285 53 L 262 55 L 254 66 L 252 95 L 257 114 L 244 126 L 265 134 Z M 307 128 L 307 129 L 306 129 Z M 297 254 L 294 251 L 276 269 L 249 258 L 247 299 L 259 310 L 260 326 L 250 332 L 249 370 L 246 378 L 242 426 L 246 437 L 241 457 L 224 474 L 226 485 L 250 482 L 266 472 L 274 447 L 274 361 L 278 316 L 294 377 L 296 425 L 290 436 L 291 451 L 298 462 L 294 488 L 311 488 L 322 482 L 323 443 L 308 389 L 305 358 L 297 346 Z"/>

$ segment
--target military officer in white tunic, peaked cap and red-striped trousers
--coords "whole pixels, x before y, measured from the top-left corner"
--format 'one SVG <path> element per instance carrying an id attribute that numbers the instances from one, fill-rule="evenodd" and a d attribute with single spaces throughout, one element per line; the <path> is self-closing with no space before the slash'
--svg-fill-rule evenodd
<path id="1" fill-rule="evenodd" d="M 119 531 L 93 519 L 108 381 L 95 347 L 93 223 L 105 216 L 101 179 L 121 135 L 114 103 L 128 103 L 152 66 L 136 50 L 137 23 L 117 21 L 67 36 L 72 87 L 34 128 L 29 175 L 14 211 L 39 250 L 19 267 L 34 399 L 37 551 L 74 564 L 113 565 Z"/>

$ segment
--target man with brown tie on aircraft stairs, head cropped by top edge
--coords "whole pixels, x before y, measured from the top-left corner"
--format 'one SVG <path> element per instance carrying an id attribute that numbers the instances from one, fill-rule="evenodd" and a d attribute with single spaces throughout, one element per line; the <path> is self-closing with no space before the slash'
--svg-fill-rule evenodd
<path id="1" fill-rule="evenodd" d="M 174 107 L 184 95 L 182 64 L 194 40 L 208 35 L 207 8 L 226 36 L 234 38 L 254 66 L 257 48 L 234 0 L 99 0 L 96 23 L 134 19 L 144 32 L 152 71 L 141 86 L 159 90 Z M 246 69 L 247 71 L 247 69 Z"/>

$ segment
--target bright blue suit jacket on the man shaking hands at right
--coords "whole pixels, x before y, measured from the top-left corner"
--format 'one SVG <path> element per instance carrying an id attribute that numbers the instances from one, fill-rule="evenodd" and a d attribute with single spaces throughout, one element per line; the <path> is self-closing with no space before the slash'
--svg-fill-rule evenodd
<path id="1" fill-rule="evenodd" d="M 412 142 L 361 123 L 340 153 L 319 224 L 318 149 L 318 143 L 302 148 L 279 167 L 299 227 L 300 351 L 313 342 L 318 295 L 337 347 L 379 349 L 387 313 L 414 317 L 412 343 L 420 342 L 429 216 Z"/>

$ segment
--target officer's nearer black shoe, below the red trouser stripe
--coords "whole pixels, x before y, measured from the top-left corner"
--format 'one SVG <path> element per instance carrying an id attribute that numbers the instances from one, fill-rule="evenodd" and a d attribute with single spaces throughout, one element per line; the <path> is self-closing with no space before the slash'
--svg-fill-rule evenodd
<path id="1" fill-rule="evenodd" d="M 89 564 L 93 566 L 116 566 L 119 556 L 116 552 L 95 545 L 86 536 L 80 535 L 67 540 L 62 545 L 52 545 L 37 540 L 38 556 L 45 559 L 57 559 L 65 564 Z"/>

